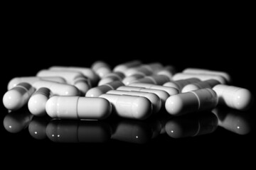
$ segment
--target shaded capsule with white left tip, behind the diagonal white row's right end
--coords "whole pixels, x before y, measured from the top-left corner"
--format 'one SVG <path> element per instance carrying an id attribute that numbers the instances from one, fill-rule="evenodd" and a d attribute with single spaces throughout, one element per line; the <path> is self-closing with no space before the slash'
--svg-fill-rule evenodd
<path id="1" fill-rule="evenodd" d="M 177 81 L 166 82 L 165 84 L 163 84 L 163 86 L 174 87 L 175 89 L 178 89 L 179 91 L 181 91 L 183 89 L 183 87 L 186 86 L 187 84 L 193 84 L 193 83 L 196 83 L 199 81 L 200 81 L 200 79 L 196 79 L 196 78 L 181 79 L 181 80 L 177 80 Z"/>

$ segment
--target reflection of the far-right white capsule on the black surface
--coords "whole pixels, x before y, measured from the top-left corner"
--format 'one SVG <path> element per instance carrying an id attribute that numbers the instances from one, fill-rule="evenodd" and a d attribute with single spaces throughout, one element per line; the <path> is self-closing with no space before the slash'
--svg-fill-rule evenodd
<path id="1" fill-rule="evenodd" d="M 255 118 L 250 111 L 238 111 L 231 108 L 218 107 L 213 109 L 213 113 L 218 117 L 218 125 L 230 132 L 238 135 L 248 134 L 254 124 Z"/>

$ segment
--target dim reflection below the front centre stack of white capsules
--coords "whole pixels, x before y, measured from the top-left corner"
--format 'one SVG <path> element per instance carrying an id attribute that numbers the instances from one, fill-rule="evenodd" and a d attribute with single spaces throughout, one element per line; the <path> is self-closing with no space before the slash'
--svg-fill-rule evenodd
<path id="1" fill-rule="evenodd" d="M 149 123 L 139 120 L 120 120 L 114 125 L 112 140 L 129 142 L 135 144 L 145 144 L 152 139 L 153 131 Z"/>

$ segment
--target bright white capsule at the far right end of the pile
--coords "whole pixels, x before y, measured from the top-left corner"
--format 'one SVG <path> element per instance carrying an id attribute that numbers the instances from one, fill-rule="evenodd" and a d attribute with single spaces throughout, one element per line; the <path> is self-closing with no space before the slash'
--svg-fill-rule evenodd
<path id="1" fill-rule="evenodd" d="M 252 94 L 247 89 L 218 84 L 213 87 L 213 90 L 218 95 L 220 105 L 225 105 L 240 111 L 246 111 L 252 106 Z"/>

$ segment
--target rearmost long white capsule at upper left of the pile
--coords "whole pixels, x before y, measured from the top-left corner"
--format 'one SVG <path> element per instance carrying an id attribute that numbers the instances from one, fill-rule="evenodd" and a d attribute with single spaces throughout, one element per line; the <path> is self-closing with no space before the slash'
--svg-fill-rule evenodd
<path id="1" fill-rule="evenodd" d="M 95 86 L 97 84 L 97 81 L 99 81 L 98 75 L 90 68 L 86 67 L 62 67 L 62 66 L 53 66 L 49 68 L 50 70 L 56 70 L 56 71 L 72 71 L 72 72 L 80 72 L 84 77 L 87 77 L 90 79 L 92 86 Z"/>

